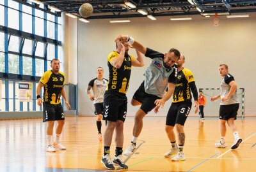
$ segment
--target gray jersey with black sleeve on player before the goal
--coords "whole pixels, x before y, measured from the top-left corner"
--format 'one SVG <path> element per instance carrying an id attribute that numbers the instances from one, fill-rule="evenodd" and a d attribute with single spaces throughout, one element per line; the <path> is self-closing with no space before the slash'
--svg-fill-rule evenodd
<path id="1" fill-rule="evenodd" d="M 234 81 L 234 76 L 230 75 L 229 73 L 223 77 L 221 80 L 220 86 L 220 98 L 226 97 L 228 95 L 228 92 L 230 91 L 231 86 L 229 85 L 230 82 Z M 239 99 L 237 97 L 237 91 L 232 94 L 230 99 L 227 99 L 227 101 L 221 101 L 220 105 L 228 105 L 228 104 L 236 104 L 239 103 Z"/>

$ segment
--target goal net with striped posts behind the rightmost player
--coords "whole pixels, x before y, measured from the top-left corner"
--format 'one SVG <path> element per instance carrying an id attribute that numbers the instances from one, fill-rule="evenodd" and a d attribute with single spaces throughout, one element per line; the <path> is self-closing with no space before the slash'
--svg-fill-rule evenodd
<path id="1" fill-rule="evenodd" d="M 211 97 L 220 94 L 220 89 L 199 89 L 206 97 L 206 105 L 204 107 L 205 117 L 219 117 L 220 99 L 211 101 Z M 237 111 L 237 117 L 244 118 L 244 88 L 237 89 L 237 96 L 239 99 L 239 110 Z"/>

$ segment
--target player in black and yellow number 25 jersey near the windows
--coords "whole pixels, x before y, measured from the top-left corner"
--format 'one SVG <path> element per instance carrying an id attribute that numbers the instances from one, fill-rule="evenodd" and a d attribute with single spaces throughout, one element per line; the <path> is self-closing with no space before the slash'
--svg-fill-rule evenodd
<path id="1" fill-rule="evenodd" d="M 60 143 L 60 135 L 62 133 L 63 125 L 65 124 L 65 115 L 61 105 L 62 96 L 65 104 L 70 109 L 70 104 L 67 101 L 64 84 L 65 75 L 60 71 L 60 61 L 52 59 L 51 70 L 46 71 L 41 77 L 40 82 L 36 88 L 36 99 L 38 106 L 44 105 L 44 119 L 47 122 L 47 152 L 56 152 L 56 150 L 66 150 Z M 44 102 L 41 99 L 40 92 L 44 87 Z M 55 120 L 58 122 L 56 127 L 56 140 L 52 144 L 52 133 Z"/>

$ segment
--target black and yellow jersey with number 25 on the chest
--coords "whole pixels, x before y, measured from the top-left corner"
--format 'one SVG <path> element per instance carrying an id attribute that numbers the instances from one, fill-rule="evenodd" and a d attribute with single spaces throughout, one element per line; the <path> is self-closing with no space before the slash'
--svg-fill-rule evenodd
<path id="1" fill-rule="evenodd" d="M 64 73 L 59 71 L 57 75 L 51 70 L 46 71 L 40 82 L 44 84 L 44 102 L 60 104 L 61 90 L 65 84 Z"/>

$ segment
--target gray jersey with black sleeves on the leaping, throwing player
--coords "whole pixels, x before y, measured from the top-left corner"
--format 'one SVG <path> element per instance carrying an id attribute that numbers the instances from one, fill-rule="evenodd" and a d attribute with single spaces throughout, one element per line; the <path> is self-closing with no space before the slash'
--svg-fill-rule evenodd
<path id="1" fill-rule="evenodd" d="M 152 62 L 145 71 L 145 92 L 158 97 L 163 97 L 166 92 L 168 82 L 175 83 L 177 77 L 177 67 L 164 67 L 164 54 L 147 48 L 146 57 L 150 57 Z"/>

